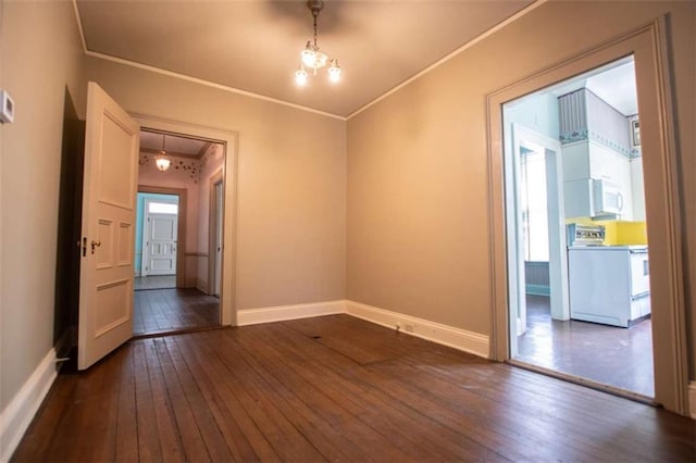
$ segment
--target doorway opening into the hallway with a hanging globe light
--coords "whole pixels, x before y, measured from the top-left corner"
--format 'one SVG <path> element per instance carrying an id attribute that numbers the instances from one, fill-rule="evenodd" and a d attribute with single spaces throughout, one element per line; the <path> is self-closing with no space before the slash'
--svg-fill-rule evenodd
<path id="1" fill-rule="evenodd" d="M 162 162 L 162 161 L 165 162 Z M 213 140 L 144 128 L 140 133 L 138 222 L 141 243 L 135 287 L 134 335 L 209 329 L 222 324 L 221 291 L 213 293 L 208 236 L 209 193 L 224 186 L 225 147 Z M 212 184 L 215 185 L 214 183 Z M 217 220 L 217 218 L 216 218 Z M 221 222 L 224 211 L 220 210 Z M 216 222 L 215 222 L 216 224 Z M 221 238 L 222 240 L 222 238 Z M 140 251 L 140 255 L 138 255 Z M 211 259 L 212 258 L 212 259 Z"/>

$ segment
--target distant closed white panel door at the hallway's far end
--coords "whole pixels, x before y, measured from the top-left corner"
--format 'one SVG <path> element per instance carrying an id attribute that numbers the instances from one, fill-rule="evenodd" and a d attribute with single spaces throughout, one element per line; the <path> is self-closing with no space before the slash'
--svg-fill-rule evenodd
<path id="1" fill-rule="evenodd" d="M 176 274 L 176 225 L 173 214 L 148 214 L 146 220 L 146 267 L 147 275 Z"/>

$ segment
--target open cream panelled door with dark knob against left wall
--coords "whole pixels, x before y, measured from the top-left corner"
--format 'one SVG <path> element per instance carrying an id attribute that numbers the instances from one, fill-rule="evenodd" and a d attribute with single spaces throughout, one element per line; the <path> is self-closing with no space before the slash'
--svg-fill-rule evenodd
<path id="1" fill-rule="evenodd" d="M 77 367 L 133 334 L 133 239 L 139 125 L 97 84 L 87 88 Z"/>

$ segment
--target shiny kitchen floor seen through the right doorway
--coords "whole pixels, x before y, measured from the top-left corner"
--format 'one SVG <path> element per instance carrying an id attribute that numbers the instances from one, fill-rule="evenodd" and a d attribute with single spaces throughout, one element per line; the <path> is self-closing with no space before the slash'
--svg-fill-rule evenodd
<path id="1" fill-rule="evenodd" d="M 652 326 L 630 328 L 551 320 L 549 298 L 527 295 L 527 331 L 515 360 L 655 397 Z"/>

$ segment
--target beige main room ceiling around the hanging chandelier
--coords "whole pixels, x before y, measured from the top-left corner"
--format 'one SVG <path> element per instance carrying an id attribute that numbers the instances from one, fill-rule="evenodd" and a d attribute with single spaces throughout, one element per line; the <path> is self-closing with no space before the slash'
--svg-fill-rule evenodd
<path id="1" fill-rule="evenodd" d="M 325 0 L 319 46 L 337 58 L 298 87 L 304 1 L 76 0 L 87 51 L 348 116 L 534 0 Z"/>

